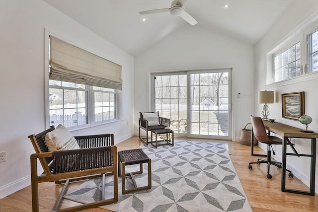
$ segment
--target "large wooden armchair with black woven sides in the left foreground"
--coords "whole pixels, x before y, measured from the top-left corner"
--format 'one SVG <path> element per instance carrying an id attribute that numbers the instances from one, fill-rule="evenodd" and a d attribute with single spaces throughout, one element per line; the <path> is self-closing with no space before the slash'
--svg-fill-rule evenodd
<path id="1" fill-rule="evenodd" d="M 59 125 L 57 129 L 52 126 L 50 129 L 37 135 L 28 136 L 36 153 L 31 154 L 31 189 L 32 189 L 32 211 L 39 211 L 38 184 L 42 182 L 64 183 L 64 187 L 52 209 L 52 211 L 80 211 L 88 208 L 98 207 L 118 201 L 118 173 L 117 173 L 117 147 L 114 146 L 113 134 L 79 136 L 67 138 L 66 142 L 57 142 L 58 150 L 51 151 L 52 146 L 48 143 L 48 137 L 53 138 L 56 130 L 63 131 L 69 135 L 66 128 Z M 53 135 L 53 137 L 52 137 Z M 54 137 L 57 139 L 58 137 Z M 46 141 L 47 140 L 47 141 Z M 72 147 L 73 149 L 69 149 Z M 51 149 L 51 150 L 49 150 Z M 37 160 L 40 161 L 44 172 L 38 175 Z M 114 180 L 114 196 L 105 199 L 104 181 L 105 174 L 111 174 Z M 102 177 L 102 199 L 98 202 L 83 204 L 67 209 L 59 209 L 63 196 L 69 183 Z"/>

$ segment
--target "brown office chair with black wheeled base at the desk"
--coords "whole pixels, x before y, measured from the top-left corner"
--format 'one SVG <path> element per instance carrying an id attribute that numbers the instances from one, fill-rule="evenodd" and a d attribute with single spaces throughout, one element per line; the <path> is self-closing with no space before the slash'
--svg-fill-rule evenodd
<path id="1" fill-rule="evenodd" d="M 257 163 L 257 164 L 267 163 L 266 177 L 268 179 L 271 179 L 272 175 L 269 173 L 270 165 L 274 165 L 274 166 L 277 166 L 278 168 L 282 168 L 281 162 L 272 161 L 271 159 L 271 156 L 272 156 L 271 148 L 273 150 L 272 144 L 282 145 L 283 141 L 281 138 L 278 138 L 276 136 L 267 135 L 263 120 L 260 117 L 250 116 L 250 120 L 252 122 L 253 133 L 257 141 L 267 144 L 267 159 L 258 158 L 256 162 L 250 162 L 248 165 L 248 169 L 252 169 L 251 164 L 254 164 L 254 163 Z M 273 150 L 273 154 L 275 155 L 274 150 Z M 289 177 L 294 177 L 294 174 L 290 170 L 286 169 L 286 171 L 289 172 L 288 174 Z"/>

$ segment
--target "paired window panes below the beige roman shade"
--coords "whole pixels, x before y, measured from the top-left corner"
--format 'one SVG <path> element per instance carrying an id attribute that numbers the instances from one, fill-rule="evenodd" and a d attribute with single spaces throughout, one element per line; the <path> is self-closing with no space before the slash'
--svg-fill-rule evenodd
<path id="1" fill-rule="evenodd" d="M 116 120 L 117 90 L 52 79 L 49 84 L 50 125 L 77 127 Z"/>

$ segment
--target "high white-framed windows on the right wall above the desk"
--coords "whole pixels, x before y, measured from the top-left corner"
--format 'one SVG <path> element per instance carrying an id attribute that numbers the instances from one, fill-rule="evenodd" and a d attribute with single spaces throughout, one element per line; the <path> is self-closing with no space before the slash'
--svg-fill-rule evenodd
<path id="1" fill-rule="evenodd" d="M 318 24 L 313 15 L 266 54 L 266 84 L 318 71 Z"/>

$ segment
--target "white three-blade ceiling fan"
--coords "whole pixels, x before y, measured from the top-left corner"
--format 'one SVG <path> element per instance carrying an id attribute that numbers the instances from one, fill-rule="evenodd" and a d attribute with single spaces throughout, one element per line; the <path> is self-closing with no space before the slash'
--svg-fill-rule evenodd
<path id="1" fill-rule="evenodd" d="M 186 1 L 187 0 L 173 0 L 171 2 L 171 7 L 170 8 L 151 9 L 151 10 L 141 11 L 141 12 L 139 12 L 139 14 L 146 15 L 146 14 L 170 11 L 171 15 L 180 16 L 185 21 L 187 21 L 189 24 L 195 25 L 198 22 L 182 8 L 182 6 L 185 4 Z"/>

